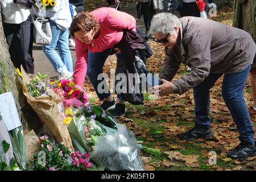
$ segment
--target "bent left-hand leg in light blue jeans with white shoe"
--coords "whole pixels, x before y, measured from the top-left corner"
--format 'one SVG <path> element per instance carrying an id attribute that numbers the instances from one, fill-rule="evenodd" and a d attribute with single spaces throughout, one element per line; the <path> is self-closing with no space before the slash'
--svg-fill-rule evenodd
<path id="1" fill-rule="evenodd" d="M 53 68 L 55 68 L 55 71 L 57 73 L 60 73 L 60 79 L 70 78 L 72 77 L 73 74 L 68 71 L 67 67 L 61 60 L 61 57 L 55 51 L 57 42 L 61 35 L 61 30 L 59 27 L 57 27 L 57 24 L 52 20 L 49 20 L 49 23 L 51 25 L 51 30 L 52 30 L 52 41 L 51 41 L 51 44 L 47 46 L 43 46 L 43 52 L 47 56 L 51 64 L 53 65 Z"/>

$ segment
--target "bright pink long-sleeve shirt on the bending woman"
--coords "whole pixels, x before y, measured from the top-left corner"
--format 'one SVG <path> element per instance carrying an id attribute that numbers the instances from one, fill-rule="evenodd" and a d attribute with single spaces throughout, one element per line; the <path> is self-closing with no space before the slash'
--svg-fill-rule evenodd
<path id="1" fill-rule="evenodd" d="M 110 7 L 101 7 L 92 11 L 90 14 L 98 20 L 101 32 L 100 36 L 97 39 L 93 39 L 89 45 L 81 43 L 79 39 L 75 39 L 76 68 L 73 78 L 76 84 L 81 86 L 84 84 L 86 76 L 88 50 L 90 52 L 105 51 L 120 42 L 123 36 L 123 30 L 136 31 L 136 20 L 127 13 Z"/>

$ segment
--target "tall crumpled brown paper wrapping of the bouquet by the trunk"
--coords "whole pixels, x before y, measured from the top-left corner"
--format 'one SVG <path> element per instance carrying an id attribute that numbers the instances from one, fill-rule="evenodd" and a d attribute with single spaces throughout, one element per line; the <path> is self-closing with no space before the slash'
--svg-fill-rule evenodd
<path id="1" fill-rule="evenodd" d="M 60 97 L 51 90 L 48 90 L 50 96 L 39 96 L 36 98 L 32 97 L 30 93 L 28 93 L 26 86 L 26 84 L 30 82 L 30 78 L 23 68 L 21 68 L 21 72 L 23 80 L 23 94 L 27 97 L 28 104 L 46 124 L 52 136 L 58 142 L 64 142 L 66 147 L 73 150 L 71 137 L 68 133 L 67 127 L 63 123 L 64 118 L 61 117 L 58 107 L 58 104 L 62 102 Z"/>

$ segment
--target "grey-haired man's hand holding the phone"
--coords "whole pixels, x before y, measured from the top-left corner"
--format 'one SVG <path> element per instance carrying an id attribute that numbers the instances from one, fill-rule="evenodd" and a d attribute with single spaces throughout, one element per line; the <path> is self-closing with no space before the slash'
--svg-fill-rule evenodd
<path id="1" fill-rule="evenodd" d="M 153 86 L 151 89 L 154 90 L 154 94 L 156 96 L 168 96 L 168 94 L 172 93 L 174 85 L 172 82 L 162 79 L 162 85 Z"/>

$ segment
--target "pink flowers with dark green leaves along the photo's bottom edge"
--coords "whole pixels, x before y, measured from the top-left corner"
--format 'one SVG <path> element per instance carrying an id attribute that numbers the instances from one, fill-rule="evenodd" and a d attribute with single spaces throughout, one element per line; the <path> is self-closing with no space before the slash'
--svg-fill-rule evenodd
<path id="1" fill-rule="evenodd" d="M 96 167 L 90 163 L 89 154 L 82 155 L 80 151 L 71 152 L 63 143 L 54 143 L 48 140 L 48 137 L 40 137 L 41 148 L 34 155 L 34 161 L 31 161 L 33 170 L 44 171 L 77 171 L 77 170 L 95 170 Z M 42 157 L 44 158 L 43 160 Z"/>

